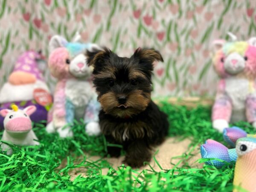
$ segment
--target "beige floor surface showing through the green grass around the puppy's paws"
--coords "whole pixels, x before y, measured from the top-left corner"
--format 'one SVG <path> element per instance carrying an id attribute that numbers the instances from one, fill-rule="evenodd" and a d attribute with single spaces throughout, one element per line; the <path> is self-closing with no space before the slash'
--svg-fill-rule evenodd
<path id="1" fill-rule="evenodd" d="M 200 155 L 200 146 L 195 146 L 195 148 L 189 148 L 190 140 L 185 139 L 179 141 L 176 137 L 170 137 L 166 139 L 166 141 L 158 146 L 155 149 L 155 158 L 162 167 L 162 169 L 172 169 L 174 168 L 175 164 L 178 163 L 178 167 L 182 165 L 189 165 L 194 168 L 201 168 L 203 165 L 197 163 L 196 161 L 201 158 Z M 192 154 L 192 155 L 188 155 Z M 101 157 L 99 156 L 92 156 L 87 159 L 87 161 L 96 161 L 99 160 Z M 117 168 L 118 166 L 122 165 L 122 161 L 124 157 L 119 158 L 105 158 L 109 163 L 113 165 L 113 168 Z M 66 164 L 65 160 L 62 163 L 62 166 Z M 151 159 L 150 165 L 153 167 L 155 171 L 160 171 L 160 167 L 155 163 L 154 159 Z M 151 169 L 150 166 L 146 165 L 141 167 L 139 171 L 143 169 Z M 107 174 L 108 169 L 103 169 L 102 174 Z M 71 176 L 71 180 L 75 179 L 78 175 L 86 176 L 86 169 L 84 168 L 75 168 L 69 172 Z"/>

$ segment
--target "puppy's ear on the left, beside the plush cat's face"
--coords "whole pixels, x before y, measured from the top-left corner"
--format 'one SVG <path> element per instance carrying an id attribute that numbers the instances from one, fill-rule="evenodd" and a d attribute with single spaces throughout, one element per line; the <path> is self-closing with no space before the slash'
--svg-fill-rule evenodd
<path id="1" fill-rule="evenodd" d="M 87 50 L 87 62 L 89 66 L 101 67 L 106 59 L 109 59 L 111 50 L 104 47 L 103 50 L 93 48 L 92 51 Z"/>

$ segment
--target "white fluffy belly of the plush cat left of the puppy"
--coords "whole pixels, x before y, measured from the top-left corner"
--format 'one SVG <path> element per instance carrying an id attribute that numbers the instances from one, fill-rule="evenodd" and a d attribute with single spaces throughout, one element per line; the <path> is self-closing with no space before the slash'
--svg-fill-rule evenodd
<path id="1" fill-rule="evenodd" d="M 84 106 L 93 96 L 92 85 L 88 81 L 69 79 L 65 86 L 65 95 L 75 106 Z"/>

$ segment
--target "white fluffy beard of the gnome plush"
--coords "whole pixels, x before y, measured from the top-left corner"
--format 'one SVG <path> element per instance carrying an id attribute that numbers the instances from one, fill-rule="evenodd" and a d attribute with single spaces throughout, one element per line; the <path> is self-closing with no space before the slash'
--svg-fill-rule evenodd
<path id="1" fill-rule="evenodd" d="M 47 84 L 40 80 L 33 84 L 23 85 L 13 85 L 6 82 L 0 90 L 0 103 L 32 100 L 34 98 L 33 91 L 36 88 L 42 88 L 49 92 Z"/>

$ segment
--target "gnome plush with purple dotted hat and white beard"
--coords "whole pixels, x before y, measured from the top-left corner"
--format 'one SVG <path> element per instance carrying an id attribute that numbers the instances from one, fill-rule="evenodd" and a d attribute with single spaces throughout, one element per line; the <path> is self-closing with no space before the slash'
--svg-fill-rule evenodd
<path id="1" fill-rule="evenodd" d="M 41 52 L 27 51 L 17 59 L 13 72 L 0 90 L 0 109 L 35 105 L 37 110 L 30 116 L 33 122 L 47 120 L 47 111 L 52 104 L 49 88 L 44 81 L 46 61 Z M 3 117 L 0 118 L 3 128 Z"/>

